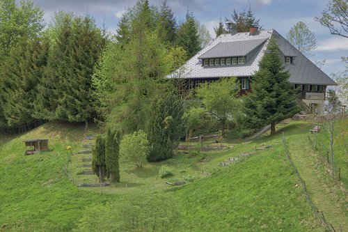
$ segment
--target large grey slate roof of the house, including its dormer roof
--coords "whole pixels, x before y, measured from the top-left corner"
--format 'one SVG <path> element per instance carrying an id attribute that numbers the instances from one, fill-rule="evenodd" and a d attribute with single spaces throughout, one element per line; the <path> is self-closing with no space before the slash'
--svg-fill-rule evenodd
<path id="1" fill-rule="evenodd" d="M 292 56 L 293 63 L 285 64 L 290 72 L 289 81 L 294 84 L 336 85 L 322 70 L 312 63 L 299 50 L 280 36 L 276 30 L 259 31 L 250 36 L 248 32 L 221 34 L 193 56 L 181 68 L 168 75 L 166 78 L 208 79 L 220 77 L 251 77 L 259 70 L 262 59 L 270 38 L 275 38 L 283 56 Z M 230 56 L 246 56 L 246 63 L 238 65 L 204 66 L 199 59 L 220 58 Z"/>

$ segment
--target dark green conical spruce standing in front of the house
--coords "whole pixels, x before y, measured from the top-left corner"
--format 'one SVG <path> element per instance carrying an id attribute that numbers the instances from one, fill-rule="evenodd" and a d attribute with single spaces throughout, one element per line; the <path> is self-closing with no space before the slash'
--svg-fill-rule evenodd
<path id="1" fill-rule="evenodd" d="M 244 99 L 248 127 L 255 129 L 271 124 L 271 134 L 274 134 L 276 123 L 299 111 L 289 78 L 290 73 L 285 70 L 278 47 L 271 40 L 260 61 L 260 70 L 253 76 L 253 93 Z"/>

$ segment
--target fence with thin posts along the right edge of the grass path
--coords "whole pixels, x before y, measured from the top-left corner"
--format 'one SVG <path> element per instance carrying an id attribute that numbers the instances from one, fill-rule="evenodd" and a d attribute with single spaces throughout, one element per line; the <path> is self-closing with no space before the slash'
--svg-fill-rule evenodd
<path id="1" fill-rule="evenodd" d="M 310 139 L 308 135 L 308 143 L 310 147 L 315 150 L 316 148 L 314 147 L 312 139 Z M 333 180 L 335 181 L 340 181 L 341 180 L 341 169 L 340 167 L 337 167 L 337 164 L 333 164 L 331 167 L 331 161 L 330 161 L 330 155 L 329 151 L 324 151 L 324 144 L 320 142 L 319 148 L 316 149 L 317 154 L 319 157 L 319 162 L 322 163 L 325 167 L 325 169 L 329 170 L 331 173 L 331 176 L 333 177 Z"/>

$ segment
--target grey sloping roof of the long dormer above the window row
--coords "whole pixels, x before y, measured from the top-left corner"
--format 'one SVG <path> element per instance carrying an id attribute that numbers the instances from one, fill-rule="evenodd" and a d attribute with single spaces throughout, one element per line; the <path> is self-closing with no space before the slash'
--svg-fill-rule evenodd
<path id="1" fill-rule="evenodd" d="M 257 40 L 239 40 L 232 42 L 220 42 L 218 45 L 205 52 L 200 59 L 246 56 L 253 49 L 266 42 L 267 38 Z"/>

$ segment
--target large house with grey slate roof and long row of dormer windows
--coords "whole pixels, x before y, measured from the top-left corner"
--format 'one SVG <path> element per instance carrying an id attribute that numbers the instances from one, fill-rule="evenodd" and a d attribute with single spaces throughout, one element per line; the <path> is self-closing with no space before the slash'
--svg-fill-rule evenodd
<path id="1" fill-rule="evenodd" d="M 241 92 L 253 89 L 253 74 L 259 70 L 269 40 L 274 38 L 290 72 L 290 83 L 301 100 L 318 114 L 324 112 L 327 86 L 336 83 L 290 44 L 276 30 L 260 31 L 251 27 L 242 33 L 223 33 L 167 78 L 185 79 L 188 88 L 220 78 L 238 77 Z"/>

